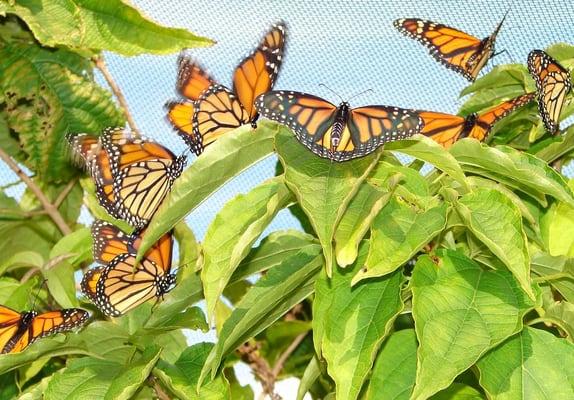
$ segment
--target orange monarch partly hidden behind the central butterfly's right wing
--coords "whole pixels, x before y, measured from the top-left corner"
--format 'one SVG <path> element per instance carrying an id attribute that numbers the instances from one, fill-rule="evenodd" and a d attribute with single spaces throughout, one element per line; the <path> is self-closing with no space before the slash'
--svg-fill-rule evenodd
<path id="1" fill-rule="evenodd" d="M 420 133 L 429 136 L 446 148 L 465 137 L 483 141 L 496 122 L 529 103 L 533 98 L 534 93 L 523 94 L 480 114 L 470 114 L 466 118 L 432 111 L 420 111 L 419 115 L 423 120 Z"/>

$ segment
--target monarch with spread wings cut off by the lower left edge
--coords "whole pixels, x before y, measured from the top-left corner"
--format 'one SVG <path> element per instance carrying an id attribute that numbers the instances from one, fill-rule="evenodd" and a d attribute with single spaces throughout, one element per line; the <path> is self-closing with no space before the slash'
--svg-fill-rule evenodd
<path id="1" fill-rule="evenodd" d="M 80 308 L 19 313 L 0 305 L 0 354 L 17 353 L 36 339 L 79 327 L 90 314 Z"/>

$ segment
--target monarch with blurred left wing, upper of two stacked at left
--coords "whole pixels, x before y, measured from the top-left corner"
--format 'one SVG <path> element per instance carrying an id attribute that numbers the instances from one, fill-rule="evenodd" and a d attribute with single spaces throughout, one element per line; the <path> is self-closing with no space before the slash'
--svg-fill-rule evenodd
<path id="1" fill-rule="evenodd" d="M 67 139 L 84 160 L 102 207 L 136 228 L 149 223 L 186 163 L 185 156 L 176 157 L 159 143 L 131 136 L 123 128 L 105 129 L 100 137 L 80 133 Z"/>

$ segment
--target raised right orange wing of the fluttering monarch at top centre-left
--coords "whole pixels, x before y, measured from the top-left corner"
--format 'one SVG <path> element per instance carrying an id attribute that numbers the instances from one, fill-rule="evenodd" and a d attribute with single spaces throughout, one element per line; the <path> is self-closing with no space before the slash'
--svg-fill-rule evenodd
<path id="1" fill-rule="evenodd" d="M 233 73 L 233 92 L 247 111 L 249 120 L 257 115 L 253 102 L 273 87 L 281 68 L 287 29 L 277 23 L 265 34 L 259 46 L 243 59 Z"/>

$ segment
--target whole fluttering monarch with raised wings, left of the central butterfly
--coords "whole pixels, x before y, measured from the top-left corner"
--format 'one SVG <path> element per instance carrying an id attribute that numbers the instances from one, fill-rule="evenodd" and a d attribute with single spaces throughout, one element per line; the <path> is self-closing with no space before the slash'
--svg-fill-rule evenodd
<path id="1" fill-rule="evenodd" d="M 245 124 L 255 127 L 257 96 L 273 87 L 283 62 L 287 28 L 279 22 L 233 72 L 233 89 L 216 83 L 194 60 L 180 57 L 177 91 L 186 98 L 166 104 L 167 118 L 199 155 L 221 135 Z"/>

